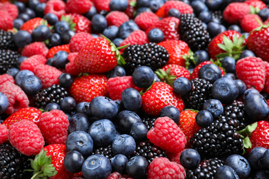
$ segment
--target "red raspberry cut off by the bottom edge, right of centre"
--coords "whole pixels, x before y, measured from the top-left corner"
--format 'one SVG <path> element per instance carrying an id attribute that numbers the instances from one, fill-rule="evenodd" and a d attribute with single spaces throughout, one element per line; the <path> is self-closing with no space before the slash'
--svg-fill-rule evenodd
<path id="1" fill-rule="evenodd" d="M 148 167 L 148 179 L 186 177 L 186 171 L 177 162 L 170 162 L 168 158 L 155 158 Z"/>

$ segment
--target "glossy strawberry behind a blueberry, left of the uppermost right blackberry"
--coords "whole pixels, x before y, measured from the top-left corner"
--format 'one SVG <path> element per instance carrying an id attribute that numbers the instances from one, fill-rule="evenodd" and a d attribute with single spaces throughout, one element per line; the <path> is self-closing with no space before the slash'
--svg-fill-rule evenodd
<path id="1" fill-rule="evenodd" d="M 146 30 L 146 34 L 153 28 L 159 28 L 163 31 L 164 39 L 163 41 L 168 40 L 179 40 L 179 19 L 176 17 L 166 17 L 153 24 Z"/>

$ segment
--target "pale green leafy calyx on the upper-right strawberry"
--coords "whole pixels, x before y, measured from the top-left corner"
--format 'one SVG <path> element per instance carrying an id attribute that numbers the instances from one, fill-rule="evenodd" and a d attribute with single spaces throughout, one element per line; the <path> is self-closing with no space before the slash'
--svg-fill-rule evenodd
<path id="1" fill-rule="evenodd" d="M 240 54 L 245 50 L 246 45 L 243 45 L 243 42 L 245 40 L 245 35 L 237 37 L 237 34 L 232 36 L 232 40 L 230 40 L 226 35 L 223 35 L 223 43 L 218 43 L 217 45 L 219 48 L 224 50 L 225 52 L 222 54 L 218 54 L 216 57 L 218 59 L 223 59 L 226 56 L 231 56 L 235 60 L 238 60 L 240 57 Z"/>

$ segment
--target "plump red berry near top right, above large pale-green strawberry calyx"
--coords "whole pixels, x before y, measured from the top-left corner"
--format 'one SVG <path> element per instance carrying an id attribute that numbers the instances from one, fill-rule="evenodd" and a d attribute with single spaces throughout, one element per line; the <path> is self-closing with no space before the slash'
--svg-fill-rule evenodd
<path id="1" fill-rule="evenodd" d="M 223 11 L 223 19 L 228 23 L 240 23 L 246 14 L 250 14 L 247 3 L 230 3 Z"/>

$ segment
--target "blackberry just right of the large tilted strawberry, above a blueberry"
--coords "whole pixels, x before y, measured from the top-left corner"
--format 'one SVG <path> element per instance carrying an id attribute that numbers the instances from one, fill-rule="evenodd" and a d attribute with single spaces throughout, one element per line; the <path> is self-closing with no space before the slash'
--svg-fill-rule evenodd
<path id="1" fill-rule="evenodd" d="M 163 67 L 169 59 L 169 54 L 165 48 L 156 43 L 145 43 L 130 45 L 124 50 L 123 57 L 126 60 L 124 67 L 130 75 L 140 66 L 151 67 L 153 71 Z"/>

